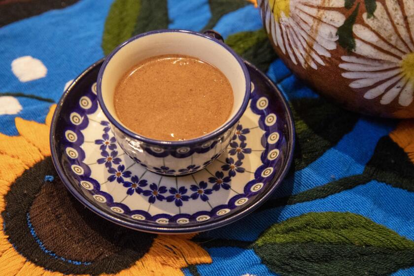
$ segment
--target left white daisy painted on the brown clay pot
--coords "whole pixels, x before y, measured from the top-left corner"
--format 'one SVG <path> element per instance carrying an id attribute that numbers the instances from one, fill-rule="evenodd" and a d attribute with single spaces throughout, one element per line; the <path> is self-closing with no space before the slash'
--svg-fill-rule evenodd
<path id="1" fill-rule="evenodd" d="M 303 68 L 325 63 L 337 47 L 337 30 L 345 16 L 332 8 L 344 7 L 344 0 L 258 0 L 265 27 L 273 42 L 292 62 Z M 264 5 L 264 6 L 263 6 Z"/>

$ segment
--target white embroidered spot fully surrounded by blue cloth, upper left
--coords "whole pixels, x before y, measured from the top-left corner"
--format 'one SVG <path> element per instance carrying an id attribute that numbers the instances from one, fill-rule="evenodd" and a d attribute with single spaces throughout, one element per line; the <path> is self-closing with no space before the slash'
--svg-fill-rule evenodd
<path id="1" fill-rule="evenodd" d="M 47 68 L 44 64 L 31 56 L 15 59 L 11 63 L 11 70 L 21 82 L 43 78 L 47 73 Z"/>

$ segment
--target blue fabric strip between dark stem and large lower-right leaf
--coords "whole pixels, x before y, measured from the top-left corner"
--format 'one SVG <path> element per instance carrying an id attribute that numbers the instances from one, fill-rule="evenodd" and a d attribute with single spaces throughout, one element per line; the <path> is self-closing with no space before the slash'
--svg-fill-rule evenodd
<path id="1" fill-rule="evenodd" d="M 208 238 L 254 241 L 269 226 L 287 218 L 307 212 L 338 211 L 361 214 L 413 240 L 413 207 L 413 193 L 371 181 L 324 199 L 256 212 L 234 224 L 202 235 Z"/>

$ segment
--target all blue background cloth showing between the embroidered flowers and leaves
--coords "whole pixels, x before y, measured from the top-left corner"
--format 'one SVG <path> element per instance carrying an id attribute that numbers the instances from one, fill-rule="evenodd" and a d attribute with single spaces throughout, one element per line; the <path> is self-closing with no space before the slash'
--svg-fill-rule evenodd
<path id="1" fill-rule="evenodd" d="M 80 0 L 67 8 L 48 11 L 0 28 L 0 92 L 33 94 L 57 103 L 69 80 L 104 57 L 102 37 L 112 2 Z M 201 31 L 211 18 L 208 0 L 168 0 L 167 3 L 169 28 Z M 214 30 L 227 38 L 262 27 L 258 9 L 248 4 L 222 16 Z M 19 81 L 11 70 L 11 63 L 22 56 L 40 60 L 47 68 L 46 77 Z M 266 73 L 288 100 L 319 97 L 280 59 L 273 61 Z M 0 115 L 0 132 L 9 136 L 18 135 L 14 126 L 16 116 L 43 123 L 51 104 L 16 98 L 22 110 L 15 115 Z M 379 139 L 387 136 L 396 123 L 361 116 L 354 128 L 336 145 L 306 168 L 287 177 L 272 199 L 296 195 L 335 179 L 362 173 Z M 231 225 L 202 233 L 200 237 L 254 242 L 270 226 L 288 218 L 308 212 L 337 211 L 363 215 L 414 240 L 413 210 L 414 193 L 373 180 L 326 198 L 257 211 Z M 252 249 L 216 247 L 206 250 L 213 262 L 197 265 L 201 276 L 275 275 Z M 188 268 L 182 272 L 185 276 L 192 276 Z M 414 275 L 414 268 L 393 274 L 405 275 Z"/>

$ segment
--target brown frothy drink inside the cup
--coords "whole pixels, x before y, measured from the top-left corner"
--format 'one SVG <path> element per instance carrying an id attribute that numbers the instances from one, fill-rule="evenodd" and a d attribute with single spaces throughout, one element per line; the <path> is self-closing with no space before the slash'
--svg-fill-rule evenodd
<path id="1" fill-rule="evenodd" d="M 222 125 L 233 108 L 226 76 L 200 59 L 161 55 L 129 69 L 115 89 L 115 112 L 135 133 L 180 141 Z"/>

